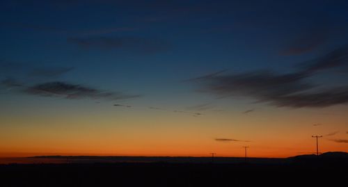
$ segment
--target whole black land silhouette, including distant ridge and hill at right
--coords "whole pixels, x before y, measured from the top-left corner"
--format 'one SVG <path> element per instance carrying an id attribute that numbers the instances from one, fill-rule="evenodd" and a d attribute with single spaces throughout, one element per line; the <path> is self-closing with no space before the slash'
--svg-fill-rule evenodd
<path id="1" fill-rule="evenodd" d="M 345 186 L 348 176 L 348 153 L 344 152 L 249 158 L 239 163 L 222 163 L 228 158 L 221 157 L 214 163 L 207 157 L 31 158 L 68 158 L 70 163 L 0 165 L 0 186 Z M 74 159 L 88 162 L 74 163 Z M 118 162 L 98 162 L 102 159 Z"/>

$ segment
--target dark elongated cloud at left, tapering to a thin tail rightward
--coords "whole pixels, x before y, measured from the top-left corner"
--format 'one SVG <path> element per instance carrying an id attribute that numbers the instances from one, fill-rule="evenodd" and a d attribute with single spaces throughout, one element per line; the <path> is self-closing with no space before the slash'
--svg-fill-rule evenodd
<path id="1" fill-rule="evenodd" d="M 44 97 L 63 97 L 65 99 L 130 99 L 139 95 L 126 95 L 121 92 L 105 92 L 95 88 L 70 84 L 65 82 L 48 82 L 31 86 L 24 90 L 29 95 L 39 95 Z"/>

